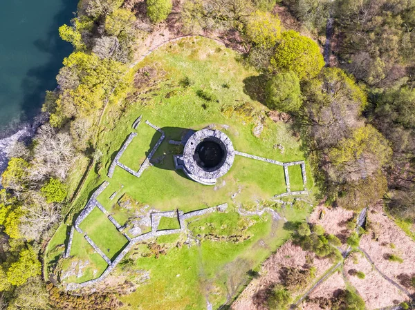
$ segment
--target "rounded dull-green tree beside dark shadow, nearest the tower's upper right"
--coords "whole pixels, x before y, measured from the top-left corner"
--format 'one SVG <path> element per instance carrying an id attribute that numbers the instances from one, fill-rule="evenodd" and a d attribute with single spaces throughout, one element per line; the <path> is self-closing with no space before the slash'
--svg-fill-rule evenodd
<path id="1" fill-rule="evenodd" d="M 268 108 L 283 112 L 295 112 L 302 105 L 299 79 L 293 71 L 282 72 L 266 84 L 266 102 Z"/>

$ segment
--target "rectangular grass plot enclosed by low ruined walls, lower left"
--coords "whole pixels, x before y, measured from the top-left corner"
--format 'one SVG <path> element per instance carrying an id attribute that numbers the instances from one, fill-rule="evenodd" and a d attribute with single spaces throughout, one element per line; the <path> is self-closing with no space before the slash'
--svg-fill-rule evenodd
<path id="1" fill-rule="evenodd" d="M 80 224 L 80 229 L 88 234 L 89 238 L 95 242 L 110 260 L 116 258 L 128 241 L 104 213 L 96 207 Z"/>

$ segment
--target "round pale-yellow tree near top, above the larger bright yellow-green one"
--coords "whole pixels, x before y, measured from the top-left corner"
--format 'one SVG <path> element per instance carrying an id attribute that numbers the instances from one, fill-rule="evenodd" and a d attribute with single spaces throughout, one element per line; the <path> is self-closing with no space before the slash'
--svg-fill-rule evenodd
<path id="1" fill-rule="evenodd" d="M 281 21 L 270 12 L 257 10 L 246 23 L 248 40 L 262 48 L 272 48 L 281 37 Z"/>

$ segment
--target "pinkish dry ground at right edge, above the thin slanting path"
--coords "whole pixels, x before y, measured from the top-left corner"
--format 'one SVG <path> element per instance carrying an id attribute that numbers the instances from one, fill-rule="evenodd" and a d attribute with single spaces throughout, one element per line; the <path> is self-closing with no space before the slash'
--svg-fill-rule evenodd
<path id="1" fill-rule="evenodd" d="M 415 293 L 415 287 L 407 285 L 404 275 L 415 276 L 415 242 L 409 238 L 382 211 L 382 206 L 376 205 L 369 211 L 369 233 L 362 236 L 360 247 L 364 249 L 380 271 L 389 278 L 403 285 L 410 293 Z M 394 254 L 403 259 L 403 263 L 391 262 L 386 255 Z"/>

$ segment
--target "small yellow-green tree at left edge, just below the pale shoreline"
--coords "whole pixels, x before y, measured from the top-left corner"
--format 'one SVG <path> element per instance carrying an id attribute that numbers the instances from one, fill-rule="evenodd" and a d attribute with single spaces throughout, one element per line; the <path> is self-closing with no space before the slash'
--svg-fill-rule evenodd
<path id="1" fill-rule="evenodd" d="M 21 190 L 27 175 L 29 164 L 23 158 L 11 158 L 6 171 L 1 175 L 1 184 L 5 188 Z"/>

